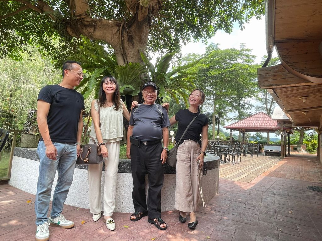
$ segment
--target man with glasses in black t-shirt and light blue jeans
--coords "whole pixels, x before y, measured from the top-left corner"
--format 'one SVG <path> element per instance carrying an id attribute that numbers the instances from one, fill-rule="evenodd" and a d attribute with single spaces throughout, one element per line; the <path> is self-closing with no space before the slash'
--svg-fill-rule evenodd
<path id="1" fill-rule="evenodd" d="M 63 64 L 62 83 L 47 85 L 38 95 L 37 122 L 42 136 L 37 152 L 40 158 L 36 211 L 36 240 L 49 240 L 49 225 L 74 227 L 61 213 L 74 174 L 77 156 L 81 150 L 84 97 L 74 90 L 83 79 L 80 63 Z M 58 180 L 52 198 L 52 211 L 47 218 L 52 183 L 58 171 Z"/>

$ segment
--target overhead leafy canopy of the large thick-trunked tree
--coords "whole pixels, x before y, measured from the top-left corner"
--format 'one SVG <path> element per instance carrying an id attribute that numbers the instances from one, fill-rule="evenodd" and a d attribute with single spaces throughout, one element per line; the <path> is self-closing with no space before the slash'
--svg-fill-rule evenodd
<path id="1" fill-rule="evenodd" d="M 59 63 L 66 56 L 79 52 L 78 34 L 87 33 L 92 39 L 103 40 L 103 35 L 113 36 L 111 41 L 118 41 L 119 35 L 114 29 L 104 26 L 107 22 L 117 26 L 124 21 L 124 26 L 139 26 L 137 9 L 139 2 L 145 5 L 148 1 L 132 1 L 128 8 L 127 1 L 89 0 L 78 2 L 78 9 L 89 9 L 86 14 L 75 16 L 75 8 L 61 0 L 53 1 L 0 2 L 0 56 L 21 59 L 20 51 L 28 52 L 27 45 L 39 46 L 44 52 L 54 57 Z M 160 8 L 150 13 L 151 6 Z M 72 4 L 74 6 L 74 4 Z M 75 7 L 75 6 L 74 6 Z M 33 10 L 34 9 L 34 10 Z M 74 11 L 73 11 L 74 10 Z M 163 49 L 175 51 L 180 43 L 191 40 L 203 40 L 213 37 L 217 30 L 231 32 L 233 24 L 238 23 L 241 29 L 253 16 L 260 18 L 264 14 L 263 0 L 213 0 L 213 1 L 150 1 L 147 21 L 150 28 L 147 46 L 148 51 L 159 52 Z M 133 13 L 133 11 L 135 11 Z M 92 18 L 91 18 L 92 17 Z M 100 22 L 94 22 L 99 19 Z M 98 24 L 102 24 L 97 26 Z M 109 26 L 106 24 L 106 26 Z M 103 28 L 103 30 L 102 30 Z M 139 28 L 139 27 L 138 27 Z M 94 32 L 103 31 L 93 36 Z M 71 36 L 71 31 L 77 36 Z M 134 33 L 135 34 L 135 33 Z M 137 51 L 137 49 L 135 49 Z"/>

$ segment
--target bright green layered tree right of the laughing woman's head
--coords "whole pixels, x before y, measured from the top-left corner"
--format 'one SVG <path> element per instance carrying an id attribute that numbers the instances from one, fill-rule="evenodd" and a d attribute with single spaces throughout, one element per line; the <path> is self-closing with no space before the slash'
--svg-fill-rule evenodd
<path id="1" fill-rule="evenodd" d="M 192 61 L 196 55 L 184 57 Z M 204 105 L 211 109 L 213 116 L 219 116 L 219 123 L 229 120 L 228 113 L 241 120 L 249 115 L 253 106 L 251 100 L 257 97 L 257 64 L 251 49 L 242 44 L 240 49 L 220 49 L 210 44 L 198 64 L 191 68 L 194 82 L 206 95 Z M 214 124 L 214 123 L 213 123 Z M 213 125 L 213 134 L 214 134 Z"/>

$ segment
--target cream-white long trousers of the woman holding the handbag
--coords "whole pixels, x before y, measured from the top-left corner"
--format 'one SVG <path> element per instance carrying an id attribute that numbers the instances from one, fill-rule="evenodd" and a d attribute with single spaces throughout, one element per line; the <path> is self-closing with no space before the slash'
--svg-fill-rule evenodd
<path id="1" fill-rule="evenodd" d="M 116 181 L 118 175 L 118 159 L 120 141 L 105 144 L 109 157 L 105 162 L 105 184 L 104 184 L 104 216 L 112 216 L 115 208 Z M 101 201 L 101 177 L 103 163 L 88 165 L 89 200 L 90 213 L 97 214 L 102 211 Z"/>

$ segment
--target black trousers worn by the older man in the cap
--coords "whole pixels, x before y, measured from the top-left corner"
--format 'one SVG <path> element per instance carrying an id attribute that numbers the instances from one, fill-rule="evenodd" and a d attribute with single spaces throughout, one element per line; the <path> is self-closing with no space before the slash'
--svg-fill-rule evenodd
<path id="1" fill-rule="evenodd" d="M 161 164 L 162 145 L 131 145 L 131 170 L 133 178 L 133 205 L 135 211 L 148 212 L 149 219 L 161 217 L 161 189 L 163 186 L 163 166 Z M 149 190 L 145 195 L 145 174 L 149 177 Z"/>

